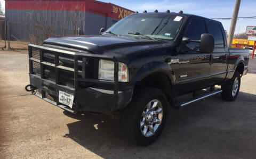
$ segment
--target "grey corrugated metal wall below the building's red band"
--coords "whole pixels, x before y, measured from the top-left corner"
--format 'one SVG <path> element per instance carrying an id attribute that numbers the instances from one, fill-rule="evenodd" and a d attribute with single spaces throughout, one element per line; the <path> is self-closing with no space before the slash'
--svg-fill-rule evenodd
<path id="1" fill-rule="evenodd" d="M 83 35 L 93 35 L 118 21 L 90 12 L 54 10 L 6 10 L 6 19 L 11 37 L 25 41 L 30 40 L 29 35 L 33 32 L 43 34 L 42 27 L 54 28 L 55 37 L 75 35 L 74 30 L 78 28 Z"/>

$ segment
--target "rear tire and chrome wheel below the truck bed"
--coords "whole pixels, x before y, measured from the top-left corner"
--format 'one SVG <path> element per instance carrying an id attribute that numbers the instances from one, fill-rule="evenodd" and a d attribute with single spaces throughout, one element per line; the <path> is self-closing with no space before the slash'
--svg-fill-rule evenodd
<path id="1" fill-rule="evenodd" d="M 240 83 L 240 74 L 235 71 L 233 78 L 231 78 L 225 85 L 221 86 L 221 89 L 223 90 L 221 97 L 226 101 L 234 101 L 239 93 Z"/>

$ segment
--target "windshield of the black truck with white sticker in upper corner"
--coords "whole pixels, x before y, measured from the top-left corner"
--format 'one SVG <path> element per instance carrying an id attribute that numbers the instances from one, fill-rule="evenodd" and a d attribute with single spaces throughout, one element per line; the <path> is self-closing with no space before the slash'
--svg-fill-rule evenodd
<path id="1" fill-rule="evenodd" d="M 173 40 L 181 27 L 183 16 L 172 14 L 133 14 L 110 27 L 107 32 L 120 36 L 136 36 Z"/>

